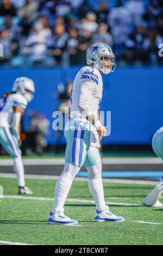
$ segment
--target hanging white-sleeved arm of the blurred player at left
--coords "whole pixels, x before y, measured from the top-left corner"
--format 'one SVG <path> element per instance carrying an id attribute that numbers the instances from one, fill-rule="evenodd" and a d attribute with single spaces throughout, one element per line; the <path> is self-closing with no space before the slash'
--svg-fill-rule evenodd
<path id="1" fill-rule="evenodd" d="M 12 117 L 11 130 L 14 133 L 17 140 L 20 140 L 20 132 L 21 132 L 21 117 L 24 113 L 24 109 L 22 107 L 13 107 L 14 114 Z"/>

